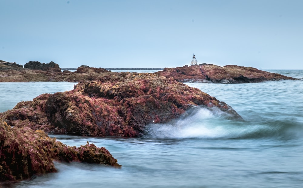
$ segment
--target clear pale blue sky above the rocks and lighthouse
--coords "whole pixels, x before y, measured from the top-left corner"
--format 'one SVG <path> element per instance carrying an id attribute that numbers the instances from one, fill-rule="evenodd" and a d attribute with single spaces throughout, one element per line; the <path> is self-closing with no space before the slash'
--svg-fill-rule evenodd
<path id="1" fill-rule="evenodd" d="M 303 69 L 303 0 L 0 0 L 0 60 Z"/>

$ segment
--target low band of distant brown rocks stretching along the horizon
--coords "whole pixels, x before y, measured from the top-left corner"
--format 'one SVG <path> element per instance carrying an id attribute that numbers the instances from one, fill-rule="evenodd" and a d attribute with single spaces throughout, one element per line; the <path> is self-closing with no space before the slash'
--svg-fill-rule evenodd
<path id="1" fill-rule="evenodd" d="M 59 67 L 58 64 L 40 63 L 39 61 L 29 61 L 24 65 L 0 61 L 0 82 L 27 82 L 27 81 L 92 81 L 98 79 L 105 72 L 112 70 L 158 70 L 161 68 L 91 68 L 82 65 L 75 72 L 68 71 L 66 68 Z M 69 69 L 71 70 L 71 69 Z M 115 74 L 115 73 L 112 73 Z M 237 65 L 225 65 L 220 67 L 214 64 L 199 64 L 176 68 L 164 68 L 162 71 L 155 72 L 156 75 L 174 78 L 179 82 L 201 82 L 201 83 L 255 83 L 261 81 L 275 80 L 298 80 L 283 76 L 281 74 L 261 71 L 252 67 L 241 67 Z"/>

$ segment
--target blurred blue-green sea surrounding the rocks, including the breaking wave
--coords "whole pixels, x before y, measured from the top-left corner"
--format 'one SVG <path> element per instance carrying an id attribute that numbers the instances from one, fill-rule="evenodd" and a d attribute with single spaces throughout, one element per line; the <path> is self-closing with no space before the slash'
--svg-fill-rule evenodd
<path id="1" fill-rule="evenodd" d="M 141 138 L 49 135 L 70 146 L 88 141 L 106 147 L 122 168 L 55 162 L 57 173 L 2 186 L 301 188 L 303 70 L 266 71 L 301 80 L 185 83 L 224 101 L 243 120 L 227 119 L 220 111 L 197 107 L 186 117 L 147 126 Z M 0 83 L 0 112 L 42 93 L 72 90 L 74 84 L 77 83 Z"/>

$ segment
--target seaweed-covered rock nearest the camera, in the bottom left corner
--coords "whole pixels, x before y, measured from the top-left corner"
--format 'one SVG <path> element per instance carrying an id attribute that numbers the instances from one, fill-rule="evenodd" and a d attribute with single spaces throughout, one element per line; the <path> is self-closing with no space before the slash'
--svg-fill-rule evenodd
<path id="1" fill-rule="evenodd" d="M 24 180 L 56 172 L 53 160 L 79 161 L 121 167 L 104 147 L 87 143 L 70 147 L 42 130 L 16 128 L 0 121 L 0 181 Z"/>

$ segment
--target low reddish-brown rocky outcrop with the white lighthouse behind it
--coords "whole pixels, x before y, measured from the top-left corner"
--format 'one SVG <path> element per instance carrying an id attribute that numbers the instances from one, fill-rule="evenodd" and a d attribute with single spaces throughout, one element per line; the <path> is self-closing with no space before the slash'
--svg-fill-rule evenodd
<path id="1" fill-rule="evenodd" d="M 202 83 L 255 83 L 274 80 L 296 80 L 281 74 L 261 71 L 252 67 L 241 67 L 237 65 L 225 65 L 220 67 L 213 64 L 200 64 L 183 66 L 177 68 L 165 68 L 156 74 L 173 77 L 180 82 L 202 82 Z"/>

